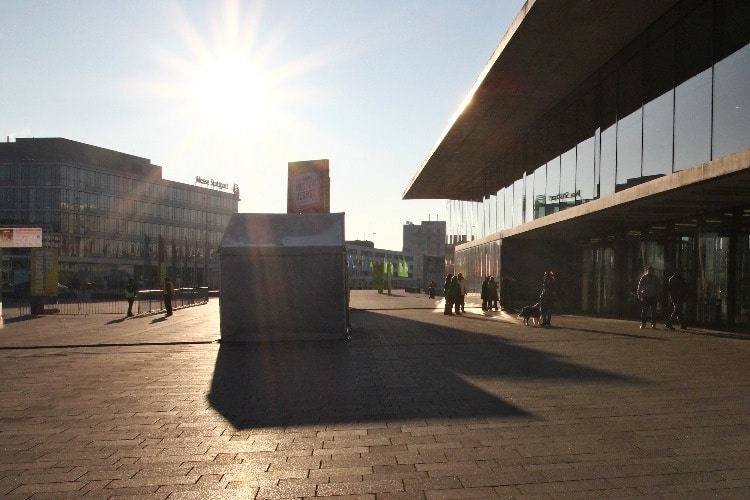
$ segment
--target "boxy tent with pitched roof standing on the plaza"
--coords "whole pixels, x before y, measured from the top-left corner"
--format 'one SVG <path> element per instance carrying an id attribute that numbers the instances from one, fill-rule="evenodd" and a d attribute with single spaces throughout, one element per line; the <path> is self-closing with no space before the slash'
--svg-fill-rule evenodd
<path id="1" fill-rule="evenodd" d="M 219 245 L 221 340 L 348 336 L 344 214 L 234 214 Z"/>

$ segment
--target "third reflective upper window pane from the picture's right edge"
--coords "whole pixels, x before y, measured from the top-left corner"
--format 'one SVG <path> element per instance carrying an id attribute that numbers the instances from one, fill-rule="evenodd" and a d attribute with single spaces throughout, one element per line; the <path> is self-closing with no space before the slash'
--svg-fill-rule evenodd
<path id="1" fill-rule="evenodd" d="M 643 176 L 672 173 L 674 91 L 643 107 Z"/>

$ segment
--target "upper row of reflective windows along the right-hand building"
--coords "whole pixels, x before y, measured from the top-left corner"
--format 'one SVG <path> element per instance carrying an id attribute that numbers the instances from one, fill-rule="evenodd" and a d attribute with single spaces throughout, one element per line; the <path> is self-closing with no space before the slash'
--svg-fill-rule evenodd
<path id="1" fill-rule="evenodd" d="M 632 57 L 642 60 L 645 55 Z M 632 91 L 633 84 L 621 80 L 610 81 L 614 89 L 607 89 L 603 77 L 577 103 L 596 108 L 599 102 L 601 111 L 608 107 L 607 93 L 626 101 L 623 93 Z M 450 202 L 451 232 L 465 234 L 463 226 L 476 227 L 481 236 L 491 234 L 748 148 L 748 81 L 750 45 L 745 45 L 627 115 L 615 106 L 612 124 L 600 121 L 590 135 L 483 203 Z M 641 88 L 647 88 L 646 82 Z M 576 128 L 574 119 L 571 128 Z M 539 137 L 529 142 L 534 140 L 543 142 Z"/>

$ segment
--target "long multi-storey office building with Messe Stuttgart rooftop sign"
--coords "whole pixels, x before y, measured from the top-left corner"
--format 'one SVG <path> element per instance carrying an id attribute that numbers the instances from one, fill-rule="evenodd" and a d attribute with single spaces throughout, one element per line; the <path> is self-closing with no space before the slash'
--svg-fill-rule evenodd
<path id="1" fill-rule="evenodd" d="M 222 186 L 223 187 L 223 186 Z M 218 286 L 216 250 L 239 193 L 162 179 L 147 159 L 60 138 L 0 143 L 0 226 L 40 227 L 59 252 L 60 282 L 122 289 Z M 4 249 L 2 279 L 29 269 Z"/>

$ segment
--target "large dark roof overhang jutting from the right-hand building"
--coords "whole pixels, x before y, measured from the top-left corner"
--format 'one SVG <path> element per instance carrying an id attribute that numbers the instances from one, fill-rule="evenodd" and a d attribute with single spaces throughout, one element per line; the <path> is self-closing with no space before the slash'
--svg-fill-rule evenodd
<path id="1" fill-rule="evenodd" d="M 675 3 L 528 0 L 403 198 L 480 201 L 493 193 L 477 186 L 478 173 L 493 168 L 500 187 L 522 177 L 525 165 L 500 168 L 500 159 Z"/>

